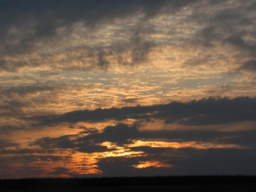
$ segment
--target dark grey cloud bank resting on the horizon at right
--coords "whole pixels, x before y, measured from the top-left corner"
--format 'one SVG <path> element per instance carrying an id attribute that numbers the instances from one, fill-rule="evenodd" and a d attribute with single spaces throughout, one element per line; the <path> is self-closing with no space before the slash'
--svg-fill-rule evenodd
<path id="1" fill-rule="evenodd" d="M 148 161 L 145 157 L 111 157 L 101 159 L 97 165 L 102 175 L 134 176 L 134 175 L 237 175 L 255 174 L 255 156 L 252 149 L 178 149 L 180 157 L 154 156 L 154 161 L 174 165 L 170 168 L 147 167 L 135 169 L 132 165 Z M 186 154 L 186 157 L 182 156 Z M 166 154 L 165 154 L 166 155 Z M 171 155 L 171 153 L 170 153 Z"/>

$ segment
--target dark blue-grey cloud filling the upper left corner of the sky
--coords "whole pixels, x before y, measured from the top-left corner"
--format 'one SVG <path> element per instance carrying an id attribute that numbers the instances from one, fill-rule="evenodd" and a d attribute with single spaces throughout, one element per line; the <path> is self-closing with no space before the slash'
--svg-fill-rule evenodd
<path id="1" fill-rule="evenodd" d="M 5 52 L 13 52 L 14 46 L 10 47 L 7 41 L 15 34 L 11 29 L 25 32 L 19 39 L 16 49 L 28 50 L 33 41 L 44 37 L 56 35 L 60 27 L 71 28 L 81 21 L 85 26 L 97 28 L 97 25 L 115 21 L 117 18 L 127 18 L 139 11 L 145 13 L 145 18 L 152 18 L 162 12 L 177 11 L 194 1 L 81 1 L 76 0 L 70 4 L 69 1 L 1 1 L 1 39 L 4 43 Z M 67 14 L 68 13 L 68 14 Z M 27 29 L 27 30 L 26 30 Z M 16 37 L 18 38 L 18 37 Z M 30 48 L 31 49 L 31 48 Z M 16 51 L 17 52 L 17 51 Z"/>

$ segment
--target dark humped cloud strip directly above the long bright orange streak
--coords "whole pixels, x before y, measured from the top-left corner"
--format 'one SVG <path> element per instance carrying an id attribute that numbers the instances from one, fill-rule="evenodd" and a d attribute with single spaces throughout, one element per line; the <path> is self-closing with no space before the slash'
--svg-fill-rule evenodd
<path id="1" fill-rule="evenodd" d="M 139 126 L 119 124 L 107 126 L 102 133 L 93 133 L 78 138 L 79 146 L 90 146 L 89 141 L 101 143 L 105 141 L 117 143 L 119 146 L 132 143 L 133 140 L 165 140 L 173 142 L 212 142 L 253 147 L 255 134 L 253 131 L 221 132 L 209 130 L 168 130 L 168 131 L 140 131 Z M 71 146 L 71 145 L 70 145 Z M 147 149 L 147 148 L 146 148 Z"/>

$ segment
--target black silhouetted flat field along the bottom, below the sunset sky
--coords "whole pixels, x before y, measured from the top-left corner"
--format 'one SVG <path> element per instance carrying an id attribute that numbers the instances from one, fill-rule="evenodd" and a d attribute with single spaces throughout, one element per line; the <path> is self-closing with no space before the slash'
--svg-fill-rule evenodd
<path id="1" fill-rule="evenodd" d="M 256 176 L 23 178 L 0 180 L 1 191 L 254 191 Z"/>

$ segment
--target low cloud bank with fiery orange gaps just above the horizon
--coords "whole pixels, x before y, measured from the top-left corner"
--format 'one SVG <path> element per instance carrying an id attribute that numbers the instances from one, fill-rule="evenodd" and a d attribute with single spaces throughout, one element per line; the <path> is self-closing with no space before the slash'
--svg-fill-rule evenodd
<path id="1" fill-rule="evenodd" d="M 88 135 L 84 136 L 83 133 Z M 101 177 L 238 174 L 241 171 L 254 174 L 249 169 L 255 160 L 254 135 L 254 130 L 222 132 L 204 130 L 203 127 L 199 130 L 141 131 L 140 124 L 118 124 L 107 126 L 101 132 L 43 137 L 31 141 L 29 147 L 34 149 L 1 150 L 1 158 L 8 155 L 12 163 L 22 161 L 30 162 L 31 165 L 39 161 L 41 167 L 51 162 L 44 173 L 63 174 L 65 177 L 81 177 L 92 173 L 94 176 L 100 174 Z M 202 159 L 207 161 L 202 162 Z M 60 166 L 61 162 L 70 162 L 70 166 Z M 136 169 L 137 165 L 144 168 Z M 65 169 L 55 169 L 57 167 Z M 82 170 L 79 172 L 77 169 Z"/>

